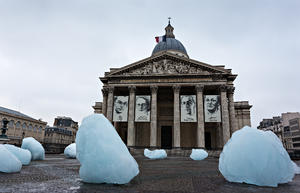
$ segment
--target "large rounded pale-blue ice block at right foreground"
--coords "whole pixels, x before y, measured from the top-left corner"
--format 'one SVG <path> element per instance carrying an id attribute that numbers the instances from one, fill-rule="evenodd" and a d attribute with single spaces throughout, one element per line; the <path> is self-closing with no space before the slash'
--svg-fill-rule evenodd
<path id="1" fill-rule="evenodd" d="M 245 126 L 233 133 L 219 159 L 230 182 L 277 187 L 292 181 L 294 167 L 281 141 L 271 131 Z"/>

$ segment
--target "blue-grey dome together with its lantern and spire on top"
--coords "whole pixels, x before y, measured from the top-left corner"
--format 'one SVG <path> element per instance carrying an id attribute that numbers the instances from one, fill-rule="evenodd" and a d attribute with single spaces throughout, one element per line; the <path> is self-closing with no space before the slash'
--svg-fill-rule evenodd
<path id="1" fill-rule="evenodd" d="M 168 51 L 173 54 L 187 57 L 187 52 L 182 45 L 182 43 L 175 39 L 175 35 L 173 34 L 174 28 L 171 26 L 170 21 L 168 26 L 165 28 L 166 34 L 163 36 L 163 41 L 160 41 L 153 49 L 152 55 L 155 55 L 161 51 Z"/>

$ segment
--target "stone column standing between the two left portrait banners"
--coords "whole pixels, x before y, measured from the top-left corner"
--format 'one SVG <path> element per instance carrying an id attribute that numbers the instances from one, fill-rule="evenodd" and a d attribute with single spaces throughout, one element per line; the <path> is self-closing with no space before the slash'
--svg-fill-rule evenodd
<path id="1" fill-rule="evenodd" d="M 134 127 L 134 107 L 135 107 L 135 86 L 129 86 L 129 113 L 127 129 L 127 146 L 135 146 L 135 127 Z"/>

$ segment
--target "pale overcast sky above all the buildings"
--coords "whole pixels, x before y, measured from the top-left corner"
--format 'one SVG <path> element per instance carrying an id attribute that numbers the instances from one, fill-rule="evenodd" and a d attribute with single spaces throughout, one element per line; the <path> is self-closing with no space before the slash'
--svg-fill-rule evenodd
<path id="1" fill-rule="evenodd" d="M 238 74 L 252 126 L 300 111 L 299 0 L 0 0 L 0 106 L 81 122 L 99 77 L 149 57 L 169 16 L 190 58 Z"/>

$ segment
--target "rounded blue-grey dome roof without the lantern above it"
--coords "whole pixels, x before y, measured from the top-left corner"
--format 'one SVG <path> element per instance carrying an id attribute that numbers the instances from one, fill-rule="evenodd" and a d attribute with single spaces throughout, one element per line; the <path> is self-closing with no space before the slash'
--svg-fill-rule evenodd
<path id="1" fill-rule="evenodd" d="M 174 52 L 180 52 L 187 56 L 187 52 L 182 45 L 182 43 L 175 39 L 175 38 L 166 38 L 166 41 L 159 42 L 153 49 L 152 55 L 161 52 L 161 51 L 174 51 Z"/>

